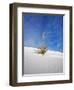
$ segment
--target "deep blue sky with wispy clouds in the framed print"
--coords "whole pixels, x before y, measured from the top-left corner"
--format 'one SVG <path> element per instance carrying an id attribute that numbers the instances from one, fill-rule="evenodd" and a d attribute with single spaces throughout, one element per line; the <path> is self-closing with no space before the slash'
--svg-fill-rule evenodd
<path id="1" fill-rule="evenodd" d="M 63 52 L 63 16 L 23 14 L 24 46 Z"/>

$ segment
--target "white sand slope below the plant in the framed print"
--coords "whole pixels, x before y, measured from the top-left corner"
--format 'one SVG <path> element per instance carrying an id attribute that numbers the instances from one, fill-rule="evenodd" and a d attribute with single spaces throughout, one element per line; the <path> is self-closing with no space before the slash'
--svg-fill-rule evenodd
<path id="1" fill-rule="evenodd" d="M 36 52 L 37 50 L 24 47 L 24 75 L 63 72 L 63 53 L 48 50 L 41 55 Z"/>

